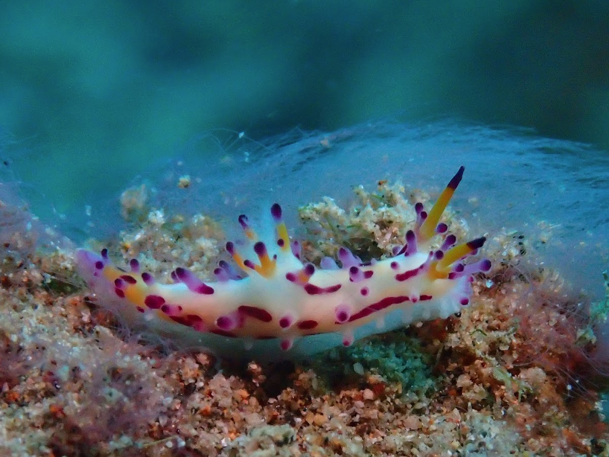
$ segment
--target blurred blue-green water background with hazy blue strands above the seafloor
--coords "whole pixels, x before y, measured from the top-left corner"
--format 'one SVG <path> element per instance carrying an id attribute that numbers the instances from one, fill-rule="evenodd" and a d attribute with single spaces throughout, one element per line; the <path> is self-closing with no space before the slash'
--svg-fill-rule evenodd
<path id="1" fill-rule="evenodd" d="M 229 218 L 464 163 L 479 230 L 548 219 L 576 283 L 607 265 L 607 2 L 15 0 L 0 30 L 2 195 L 74 238 L 142 180 Z"/>

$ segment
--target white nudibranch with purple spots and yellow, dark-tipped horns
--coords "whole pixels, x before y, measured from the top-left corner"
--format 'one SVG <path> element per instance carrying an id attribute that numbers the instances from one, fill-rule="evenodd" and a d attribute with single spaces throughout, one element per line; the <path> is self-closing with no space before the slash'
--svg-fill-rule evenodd
<path id="1" fill-rule="evenodd" d="M 463 170 L 429 212 L 423 204 L 415 205 L 417 220 L 404 245 L 382 260 L 364 263 L 341 247 L 340 266 L 328 257 L 319 267 L 303 263 L 280 205 L 273 204 L 275 233 L 257 234 L 247 217 L 239 216 L 247 243 L 226 244 L 236 266 L 220 261 L 214 282 L 178 267 L 171 274 L 174 283 L 161 284 L 141 272 L 135 259 L 130 271 L 114 266 L 107 249 L 100 255 L 79 250 L 76 263 L 100 303 L 130 321 L 220 355 L 248 356 L 244 349 L 250 349 L 255 351 L 250 356 L 265 359 L 350 345 L 371 333 L 446 318 L 470 302 L 472 275 L 488 271 L 490 261 L 464 260 L 477 253 L 485 238 L 457 244 L 440 222 Z"/>

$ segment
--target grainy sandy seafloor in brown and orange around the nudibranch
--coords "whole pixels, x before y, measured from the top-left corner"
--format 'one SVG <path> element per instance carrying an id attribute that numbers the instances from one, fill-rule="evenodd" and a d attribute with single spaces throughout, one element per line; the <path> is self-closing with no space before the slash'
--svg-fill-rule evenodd
<path id="1" fill-rule="evenodd" d="M 124 194 L 133 224 L 110 241 L 114 260 L 209 277 L 226 258 L 219 225 L 149 208 L 144 193 Z M 341 245 L 386 255 L 411 227 L 412 204 L 428 199 L 381 182 L 357 188 L 345 210 L 331 199 L 300 208 L 306 257 Z M 541 221 L 538 239 L 487 234 L 493 268 L 460 316 L 264 366 L 125 328 L 89 295 L 69 243 L 36 248 L 43 234 L 23 210 L 3 205 L 2 233 L 3 455 L 609 455 L 607 342 L 597 340 L 608 303 L 566 291 L 535 262 L 552 236 Z"/>

